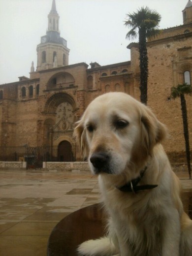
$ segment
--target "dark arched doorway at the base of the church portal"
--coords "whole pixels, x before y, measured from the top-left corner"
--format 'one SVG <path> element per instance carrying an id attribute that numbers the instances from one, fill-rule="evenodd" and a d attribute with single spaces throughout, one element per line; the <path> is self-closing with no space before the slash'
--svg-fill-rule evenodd
<path id="1" fill-rule="evenodd" d="M 58 161 L 60 162 L 73 161 L 72 146 L 66 140 L 60 142 L 58 146 Z"/>

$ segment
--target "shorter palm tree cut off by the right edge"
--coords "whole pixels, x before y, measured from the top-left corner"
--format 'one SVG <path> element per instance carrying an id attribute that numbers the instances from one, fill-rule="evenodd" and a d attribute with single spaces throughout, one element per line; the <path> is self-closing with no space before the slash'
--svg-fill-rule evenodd
<path id="1" fill-rule="evenodd" d="M 187 83 L 179 84 L 177 87 L 171 88 L 171 97 L 174 99 L 177 97 L 180 97 L 180 100 L 181 100 L 181 111 L 182 111 L 182 118 L 183 118 L 186 158 L 188 163 L 188 172 L 189 172 L 190 179 L 192 178 L 192 174 L 191 174 L 192 170 L 191 170 L 189 129 L 188 129 L 188 117 L 187 117 L 187 106 L 186 106 L 185 95 L 191 95 L 191 94 L 192 94 L 192 86 Z"/>

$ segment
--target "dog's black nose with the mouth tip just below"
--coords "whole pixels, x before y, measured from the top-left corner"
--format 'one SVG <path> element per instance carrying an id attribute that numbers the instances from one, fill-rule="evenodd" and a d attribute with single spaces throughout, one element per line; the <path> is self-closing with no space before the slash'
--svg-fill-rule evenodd
<path id="1" fill-rule="evenodd" d="M 104 152 L 94 153 L 90 158 L 90 162 L 93 164 L 96 174 L 100 172 L 110 173 L 109 161 L 109 155 Z"/>

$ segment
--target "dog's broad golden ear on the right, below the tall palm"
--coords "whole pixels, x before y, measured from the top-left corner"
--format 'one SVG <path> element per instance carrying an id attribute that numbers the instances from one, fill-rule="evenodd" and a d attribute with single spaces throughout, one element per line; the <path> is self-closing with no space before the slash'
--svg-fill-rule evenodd
<path id="1" fill-rule="evenodd" d="M 166 137 L 167 128 L 148 107 L 144 106 L 141 110 L 141 129 L 142 144 L 151 154 L 153 147 Z"/>

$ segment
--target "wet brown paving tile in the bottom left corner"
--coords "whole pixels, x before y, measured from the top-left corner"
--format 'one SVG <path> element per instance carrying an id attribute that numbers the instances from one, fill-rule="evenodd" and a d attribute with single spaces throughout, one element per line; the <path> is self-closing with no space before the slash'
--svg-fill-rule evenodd
<path id="1" fill-rule="evenodd" d="M 46 256 L 49 236 L 0 235 L 1 256 Z"/>

